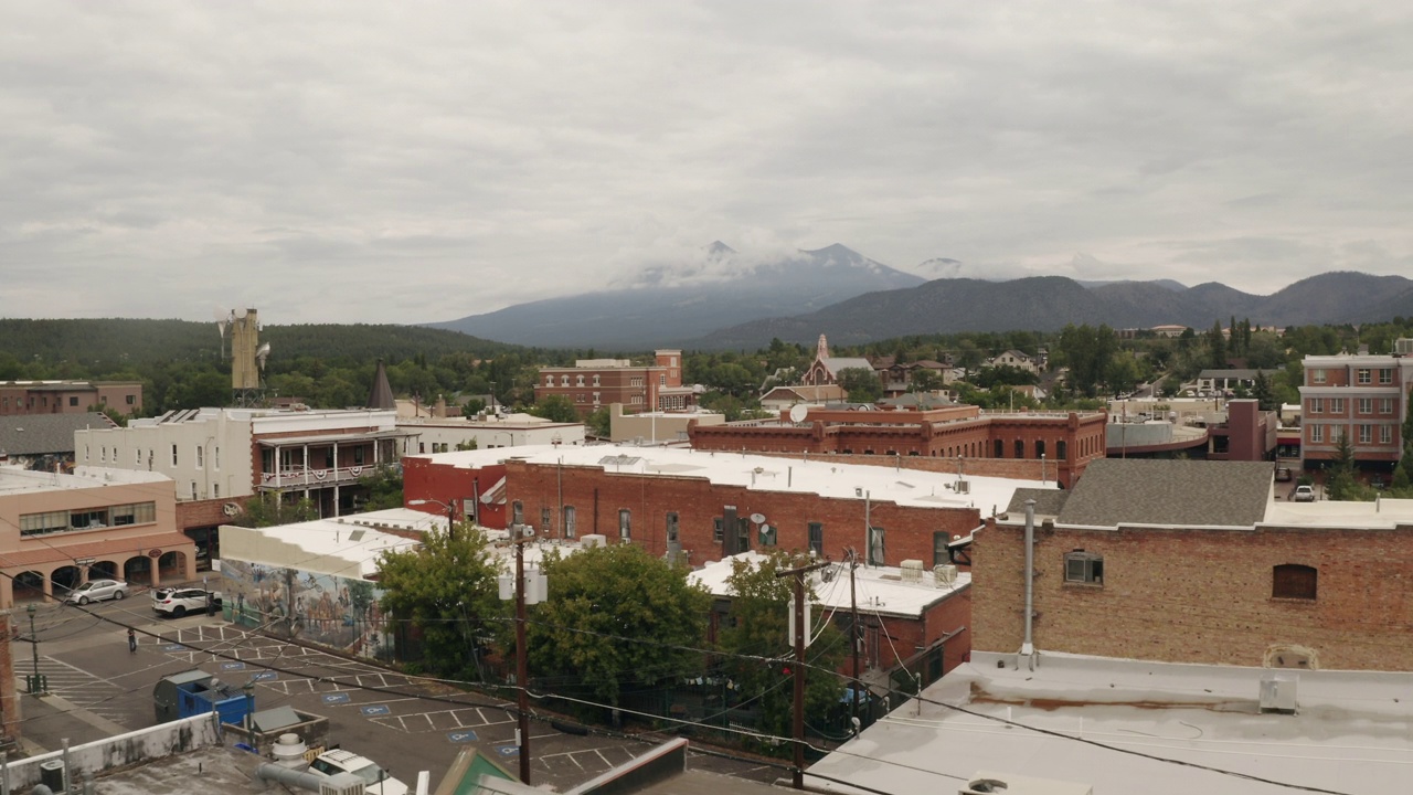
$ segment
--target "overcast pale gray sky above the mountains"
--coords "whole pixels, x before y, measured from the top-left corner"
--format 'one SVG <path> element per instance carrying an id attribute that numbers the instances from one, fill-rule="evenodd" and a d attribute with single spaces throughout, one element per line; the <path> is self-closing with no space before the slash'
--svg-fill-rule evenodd
<path id="1" fill-rule="evenodd" d="M 1147 6 L 0 0 L 0 315 L 427 323 L 715 239 L 1413 276 L 1413 4 Z"/>

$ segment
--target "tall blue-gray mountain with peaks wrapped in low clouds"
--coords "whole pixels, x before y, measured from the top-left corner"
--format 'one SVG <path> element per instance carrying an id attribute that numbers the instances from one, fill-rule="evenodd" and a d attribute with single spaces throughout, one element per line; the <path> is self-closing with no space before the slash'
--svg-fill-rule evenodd
<path id="1" fill-rule="evenodd" d="M 530 301 L 428 325 L 519 345 L 644 349 L 921 283 L 920 276 L 838 243 L 752 257 L 718 240 L 694 260 L 650 266 L 603 291 Z"/>

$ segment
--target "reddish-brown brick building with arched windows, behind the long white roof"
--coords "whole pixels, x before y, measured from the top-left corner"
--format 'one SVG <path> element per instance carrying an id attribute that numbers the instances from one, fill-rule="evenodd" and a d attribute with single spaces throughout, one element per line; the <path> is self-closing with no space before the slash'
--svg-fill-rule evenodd
<path id="1" fill-rule="evenodd" d="M 959 458 L 964 468 L 974 460 L 1030 460 L 1044 463 L 1048 478 L 1071 487 L 1089 461 L 1104 458 L 1106 419 L 1104 412 L 982 412 L 976 406 L 811 409 L 801 423 L 691 426 L 688 437 L 697 450 Z"/>

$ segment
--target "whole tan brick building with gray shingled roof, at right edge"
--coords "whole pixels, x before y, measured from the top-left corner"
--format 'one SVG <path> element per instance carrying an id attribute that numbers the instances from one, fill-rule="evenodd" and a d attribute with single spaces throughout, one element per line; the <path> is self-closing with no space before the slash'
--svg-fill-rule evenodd
<path id="1" fill-rule="evenodd" d="M 976 532 L 972 646 L 1024 637 L 1024 513 Z M 1413 669 L 1413 504 L 1287 504 L 1272 465 L 1108 460 L 1037 506 L 1034 646 L 1147 661 Z"/>

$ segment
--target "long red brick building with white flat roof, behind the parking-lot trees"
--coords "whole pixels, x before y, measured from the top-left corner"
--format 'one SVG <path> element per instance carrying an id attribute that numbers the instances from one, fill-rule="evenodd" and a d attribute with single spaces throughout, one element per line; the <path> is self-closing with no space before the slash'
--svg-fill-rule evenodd
<path id="1" fill-rule="evenodd" d="M 702 566 L 752 549 L 812 550 L 869 563 L 950 563 L 947 545 L 1040 481 L 900 470 L 818 458 L 680 448 L 471 450 L 408 457 L 403 494 L 428 512 L 478 505 L 480 523 L 534 525 L 548 538 L 595 533 Z M 1051 481 L 1053 482 L 1053 481 Z M 961 484 L 961 485 L 958 485 Z M 1051 487 L 1053 489 L 1053 487 Z"/>

